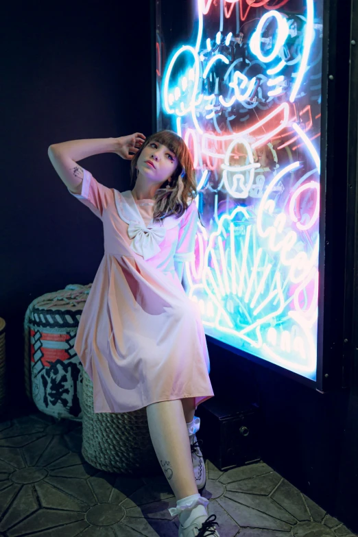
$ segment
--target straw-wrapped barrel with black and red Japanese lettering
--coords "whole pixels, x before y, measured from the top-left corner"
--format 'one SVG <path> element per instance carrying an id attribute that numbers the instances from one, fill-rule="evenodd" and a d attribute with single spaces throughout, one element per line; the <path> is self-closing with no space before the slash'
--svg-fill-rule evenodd
<path id="1" fill-rule="evenodd" d="M 36 298 L 25 315 L 25 386 L 40 411 L 81 420 L 82 363 L 73 345 L 91 285 Z"/>

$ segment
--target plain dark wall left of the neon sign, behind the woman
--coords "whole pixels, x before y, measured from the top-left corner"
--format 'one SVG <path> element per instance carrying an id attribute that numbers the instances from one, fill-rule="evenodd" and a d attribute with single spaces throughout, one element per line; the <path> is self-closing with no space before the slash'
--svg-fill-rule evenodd
<path id="1" fill-rule="evenodd" d="M 0 317 L 6 321 L 11 405 L 23 400 L 22 323 L 30 302 L 93 281 L 99 220 L 67 192 L 51 143 L 150 134 L 150 2 L 6 3 L 1 12 Z M 40 7 L 41 6 L 41 7 Z M 56 7 L 61 6 L 61 7 Z M 129 187 L 114 154 L 82 165 Z"/>

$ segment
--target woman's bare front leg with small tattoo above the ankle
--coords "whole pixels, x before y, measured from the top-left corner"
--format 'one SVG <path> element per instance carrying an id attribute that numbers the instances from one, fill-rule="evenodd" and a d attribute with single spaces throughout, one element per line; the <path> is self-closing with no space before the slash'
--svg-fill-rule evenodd
<path id="1" fill-rule="evenodd" d="M 182 401 L 153 403 L 147 406 L 147 418 L 156 456 L 176 499 L 198 494 Z"/>

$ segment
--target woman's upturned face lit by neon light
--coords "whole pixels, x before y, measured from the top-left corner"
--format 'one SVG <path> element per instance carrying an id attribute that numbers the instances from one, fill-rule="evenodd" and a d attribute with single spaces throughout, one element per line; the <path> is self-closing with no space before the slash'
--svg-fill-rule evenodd
<path id="1" fill-rule="evenodd" d="M 178 158 L 165 145 L 152 141 L 139 155 L 136 167 L 139 174 L 153 182 L 163 183 L 171 178 L 178 166 Z"/>

